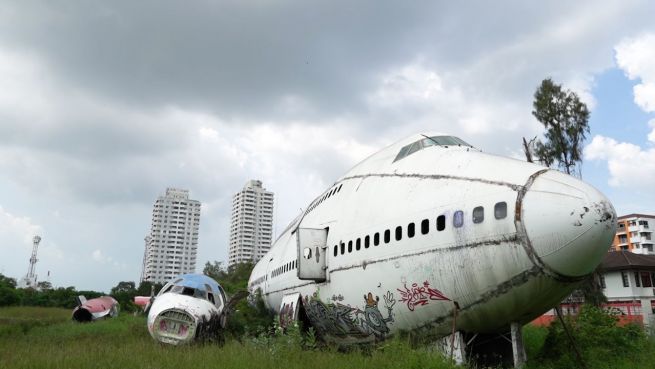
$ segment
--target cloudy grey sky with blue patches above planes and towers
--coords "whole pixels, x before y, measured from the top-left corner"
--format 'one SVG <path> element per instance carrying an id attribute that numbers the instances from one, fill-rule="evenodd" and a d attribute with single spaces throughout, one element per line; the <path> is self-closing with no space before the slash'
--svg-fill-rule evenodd
<path id="1" fill-rule="evenodd" d="M 583 178 L 655 213 L 655 2 L 0 1 L 0 273 L 137 281 L 166 187 L 275 192 L 277 232 L 351 166 L 442 131 L 522 157 L 550 76 L 591 108 Z"/>

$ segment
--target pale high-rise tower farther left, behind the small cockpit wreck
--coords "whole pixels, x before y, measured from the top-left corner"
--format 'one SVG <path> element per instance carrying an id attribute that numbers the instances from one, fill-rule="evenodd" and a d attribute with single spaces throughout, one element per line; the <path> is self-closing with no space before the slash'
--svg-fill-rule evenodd
<path id="1" fill-rule="evenodd" d="M 142 281 L 166 283 L 196 271 L 200 201 L 189 191 L 167 188 L 152 209 L 152 226 L 145 238 Z"/>

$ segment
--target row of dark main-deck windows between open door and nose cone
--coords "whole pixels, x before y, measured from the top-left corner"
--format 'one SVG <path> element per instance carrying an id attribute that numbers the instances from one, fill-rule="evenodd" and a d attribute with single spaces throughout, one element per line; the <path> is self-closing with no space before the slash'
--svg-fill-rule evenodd
<path id="1" fill-rule="evenodd" d="M 504 219 L 507 217 L 507 203 L 499 202 L 494 206 L 494 218 Z M 484 221 L 484 207 L 477 206 L 473 209 L 472 220 L 475 224 L 480 224 Z M 462 210 L 457 210 L 453 213 L 453 227 L 461 228 L 464 225 L 464 212 Z M 441 232 L 446 229 L 446 216 L 439 215 L 436 219 L 436 228 L 438 232 Z M 422 235 L 430 233 L 430 220 L 423 219 L 419 224 L 419 229 L 416 229 L 416 224 L 409 223 L 407 225 L 407 238 L 413 238 L 416 236 L 416 232 L 419 231 Z M 393 230 L 393 237 L 396 241 L 403 239 L 403 227 L 397 226 Z M 337 256 L 339 254 L 343 255 L 346 253 L 346 250 L 351 253 L 353 249 L 359 251 L 364 247 L 365 249 L 369 248 L 371 244 L 373 246 L 378 246 L 380 242 L 385 244 L 391 242 L 391 230 L 385 230 L 382 235 L 379 232 L 376 232 L 373 237 L 365 236 L 362 240 L 357 238 L 355 241 L 348 241 L 347 243 L 341 242 L 338 245 L 334 245 L 332 254 Z"/>

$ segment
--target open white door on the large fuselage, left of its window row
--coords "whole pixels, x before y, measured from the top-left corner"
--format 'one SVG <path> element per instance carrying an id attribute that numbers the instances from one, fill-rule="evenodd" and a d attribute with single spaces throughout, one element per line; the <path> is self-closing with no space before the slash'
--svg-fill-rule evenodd
<path id="1" fill-rule="evenodd" d="M 323 282 L 326 279 L 327 229 L 298 228 L 298 278 Z"/>

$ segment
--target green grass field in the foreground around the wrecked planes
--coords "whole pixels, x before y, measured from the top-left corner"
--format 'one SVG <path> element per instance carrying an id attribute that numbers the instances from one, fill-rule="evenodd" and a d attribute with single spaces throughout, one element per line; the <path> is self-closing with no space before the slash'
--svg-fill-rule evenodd
<path id="1" fill-rule="evenodd" d="M 544 329 L 525 331 L 529 369 L 563 368 L 536 358 L 546 339 Z M 648 368 L 655 349 L 625 360 L 590 362 L 588 368 Z M 576 366 L 571 366 L 576 367 Z M 149 336 L 145 317 L 122 314 L 116 319 L 80 324 L 70 311 L 52 308 L 0 309 L 0 368 L 455 368 L 440 353 L 411 348 L 392 340 L 366 350 L 343 353 L 334 348 L 303 349 L 297 338 L 280 336 L 228 340 L 171 347 Z"/>

